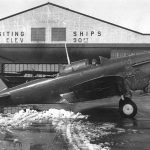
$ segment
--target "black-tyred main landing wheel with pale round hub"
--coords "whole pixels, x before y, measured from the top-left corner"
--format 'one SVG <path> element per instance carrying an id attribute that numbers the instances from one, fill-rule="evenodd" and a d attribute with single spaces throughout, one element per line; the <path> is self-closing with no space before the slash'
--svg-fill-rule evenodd
<path id="1" fill-rule="evenodd" d="M 124 118 L 133 118 L 137 114 L 136 104 L 128 97 L 119 101 L 119 112 Z"/>

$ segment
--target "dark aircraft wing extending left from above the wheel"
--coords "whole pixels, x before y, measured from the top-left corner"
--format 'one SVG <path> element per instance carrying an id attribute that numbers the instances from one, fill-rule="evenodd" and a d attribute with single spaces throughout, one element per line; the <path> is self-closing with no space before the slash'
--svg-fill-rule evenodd
<path id="1" fill-rule="evenodd" d="M 104 76 L 77 84 L 70 91 L 62 94 L 61 97 L 69 102 L 78 102 L 122 95 L 126 88 L 122 77 Z"/>

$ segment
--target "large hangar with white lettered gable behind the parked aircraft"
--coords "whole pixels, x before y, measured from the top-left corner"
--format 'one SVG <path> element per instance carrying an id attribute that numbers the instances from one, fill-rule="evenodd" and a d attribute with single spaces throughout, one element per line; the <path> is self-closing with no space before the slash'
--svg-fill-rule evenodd
<path id="1" fill-rule="evenodd" d="M 65 44 L 71 61 L 116 58 L 148 51 L 150 34 L 46 3 L 0 19 L 0 71 L 58 72 Z"/>

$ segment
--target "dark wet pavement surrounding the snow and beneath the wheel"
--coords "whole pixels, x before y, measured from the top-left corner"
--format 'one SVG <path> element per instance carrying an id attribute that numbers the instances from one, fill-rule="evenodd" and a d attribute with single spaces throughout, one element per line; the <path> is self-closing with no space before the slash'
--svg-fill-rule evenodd
<path id="1" fill-rule="evenodd" d="M 118 114 L 117 101 L 111 100 L 109 108 L 101 107 L 88 112 L 92 115 L 86 122 L 77 122 L 90 132 L 90 142 L 103 143 L 112 150 L 149 150 L 150 149 L 150 96 L 134 96 L 138 114 L 135 119 L 122 119 Z M 112 108 L 111 108 L 112 106 Z M 86 113 L 84 111 L 83 113 Z M 113 128 L 106 128 L 106 124 Z M 101 132 L 91 131 L 101 129 Z M 80 131 L 82 128 L 80 129 Z M 76 131 L 77 132 L 77 131 Z M 102 136 L 102 133 L 106 133 Z M 15 134 L 13 134 L 15 133 Z M 69 144 L 49 123 L 34 124 L 29 129 L 3 131 L 0 130 L 1 150 L 67 150 Z M 96 135 L 99 134 L 99 135 Z M 85 133 L 86 135 L 86 133 Z M 95 138 L 93 138 L 95 135 Z M 87 135 L 89 136 L 89 135 Z M 77 137 L 77 136 L 76 136 Z M 80 139 L 81 137 L 79 137 Z M 80 147 L 80 146 L 79 146 Z"/>

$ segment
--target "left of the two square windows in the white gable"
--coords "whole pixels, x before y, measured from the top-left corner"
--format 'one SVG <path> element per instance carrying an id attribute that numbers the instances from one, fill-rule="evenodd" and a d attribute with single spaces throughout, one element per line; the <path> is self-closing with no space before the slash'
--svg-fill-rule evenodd
<path id="1" fill-rule="evenodd" d="M 44 42 L 45 41 L 45 28 L 31 28 L 31 41 Z"/>

